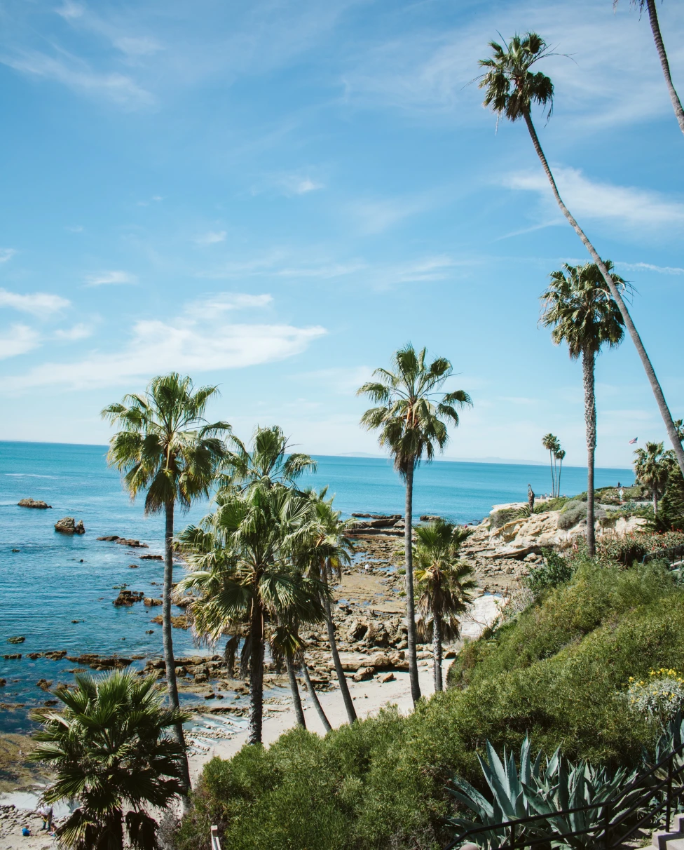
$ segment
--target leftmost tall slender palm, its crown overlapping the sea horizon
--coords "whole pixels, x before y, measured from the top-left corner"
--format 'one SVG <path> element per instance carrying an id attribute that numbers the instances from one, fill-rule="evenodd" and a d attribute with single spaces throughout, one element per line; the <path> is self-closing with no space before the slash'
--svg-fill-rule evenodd
<path id="1" fill-rule="evenodd" d="M 104 419 L 122 428 L 110 439 L 107 461 L 123 474 L 123 485 L 134 499 L 146 490 L 144 512 L 166 516 L 164 533 L 164 590 L 161 621 L 168 695 L 178 709 L 176 666 L 173 660 L 171 594 L 173 583 L 173 514 L 176 505 L 187 510 L 192 501 L 208 496 L 218 465 L 226 456 L 223 437 L 228 422 L 206 421 L 206 405 L 217 387 L 195 388 L 178 372 L 152 378 L 144 394 L 129 394 L 105 407 Z M 183 743 L 183 726 L 176 729 Z M 186 785 L 189 773 L 185 762 Z"/>

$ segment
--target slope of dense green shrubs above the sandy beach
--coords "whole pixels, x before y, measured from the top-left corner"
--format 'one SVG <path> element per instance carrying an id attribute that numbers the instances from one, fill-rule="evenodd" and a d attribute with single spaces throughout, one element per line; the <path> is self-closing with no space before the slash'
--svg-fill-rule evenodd
<path id="1" fill-rule="evenodd" d="M 649 730 L 620 693 L 651 666 L 684 666 L 682 618 L 684 590 L 658 567 L 583 568 L 466 647 L 451 689 L 410 717 L 387 711 L 323 740 L 296 730 L 268 751 L 214 759 L 178 847 L 205 847 L 212 823 L 231 850 L 439 847 L 444 782 L 479 781 L 487 738 L 518 746 L 529 732 L 546 751 L 636 761 Z"/>

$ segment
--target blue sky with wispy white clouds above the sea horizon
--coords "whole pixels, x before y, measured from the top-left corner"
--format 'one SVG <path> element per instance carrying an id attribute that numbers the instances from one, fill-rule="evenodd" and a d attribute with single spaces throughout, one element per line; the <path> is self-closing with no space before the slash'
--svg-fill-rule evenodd
<path id="1" fill-rule="evenodd" d="M 243 438 L 379 453 L 355 391 L 410 341 L 472 396 L 446 456 L 544 461 L 551 431 L 583 465 L 581 366 L 538 322 L 587 255 L 473 82 L 528 30 L 541 144 L 684 416 L 684 137 L 628 0 L 0 0 L 0 439 L 104 444 L 99 411 L 177 370 Z M 664 439 L 629 339 L 596 394 L 599 466 Z"/>

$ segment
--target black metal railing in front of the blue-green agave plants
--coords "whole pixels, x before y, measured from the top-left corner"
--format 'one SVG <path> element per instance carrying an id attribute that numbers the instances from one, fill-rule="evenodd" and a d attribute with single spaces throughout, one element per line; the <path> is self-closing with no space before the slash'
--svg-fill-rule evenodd
<path id="1" fill-rule="evenodd" d="M 488 847 L 500 850 L 527 850 L 529 847 L 550 847 L 551 842 L 586 836 L 585 847 L 596 850 L 614 850 L 636 836 L 640 830 L 670 831 L 673 813 L 684 802 L 684 758 L 676 765 L 677 757 L 684 752 L 684 743 L 670 752 L 645 773 L 640 774 L 618 794 L 602 802 L 593 802 L 576 808 L 558 809 L 527 818 L 502 821 L 500 824 L 473 826 L 461 832 L 444 850 L 455 850 L 466 842 L 478 844 L 481 836 Z M 591 819 L 591 825 L 581 829 L 558 830 L 559 821 L 572 826 L 573 820 Z M 555 822 L 555 826 L 554 826 Z M 500 833 L 500 843 L 491 840 L 491 833 Z M 486 834 L 489 833 L 489 836 Z M 579 845 L 574 842 L 573 846 Z"/>

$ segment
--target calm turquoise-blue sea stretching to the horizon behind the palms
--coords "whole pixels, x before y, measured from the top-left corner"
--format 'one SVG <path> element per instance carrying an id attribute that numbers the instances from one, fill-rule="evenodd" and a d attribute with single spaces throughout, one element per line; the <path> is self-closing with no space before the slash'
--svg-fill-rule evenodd
<path id="1" fill-rule="evenodd" d="M 163 564 L 141 560 L 161 554 L 163 519 L 144 517 L 143 501 L 131 502 L 119 474 L 105 462 L 105 446 L 0 442 L 0 703 L 36 706 L 49 696 L 38 689 L 39 678 L 54 684 L 71 679 L 74 663 L 30 660 L 31 652 L 66 649 L 69 655 L 161 655 L 161 626 L 150 624 L 161 609 L 135 604 L 116 608 L 112 600 L 124 583 L 147 596 L 161 596 Z M 379 458 L 319 457 L 318 472 L 303 484 L 335 494 L 345 515 L 353 511 L 403 513 L 404 488 L 390 462 Z M 585 490 L 585 470 L 564 467 L 562 492 Z M 597 469 L 596 486 L 630 484 L 625 469 Z M 457 522 L 482 519 L 493 504 L 527 499 L 527 485 L 538 494 L 550 489 L 543 466 L 495 463 L 435 462 L 415 476 L 414 510 L 438 513 Z M 42 499 L 52 510 L 17 507 L 21 498 Z M 197 522 L 207 505 L 197 505 L 177 526 Z M 83 536 L 64 536 L 54 523 L 64 517 L 82 519 Z M 97 541 L 105 535 L 133 537 L 149 549 L 128 549 Z M 16 551 L 15 551 L 16 550 Z M 135 564 L 137 569 L 130 569 Z M 183 570 L 177 568 L 180 578 Z M 182 613 L 177 610 L 175 613 Z M 77 621 L 77 622 L 73 622 Z M 152 629 L 152 634 L 145 632 Z M 8 638 L 24 636 L 19 645 Z M 173 631 L 177 655 L 197 652 L 189 632 Z M 21 652 L 21 660 L 2 655 Z M 139 662 L 142 665 L 144 662 Z M 0 709 L 0 731 L 28 728 L 25 711 Z"/>

